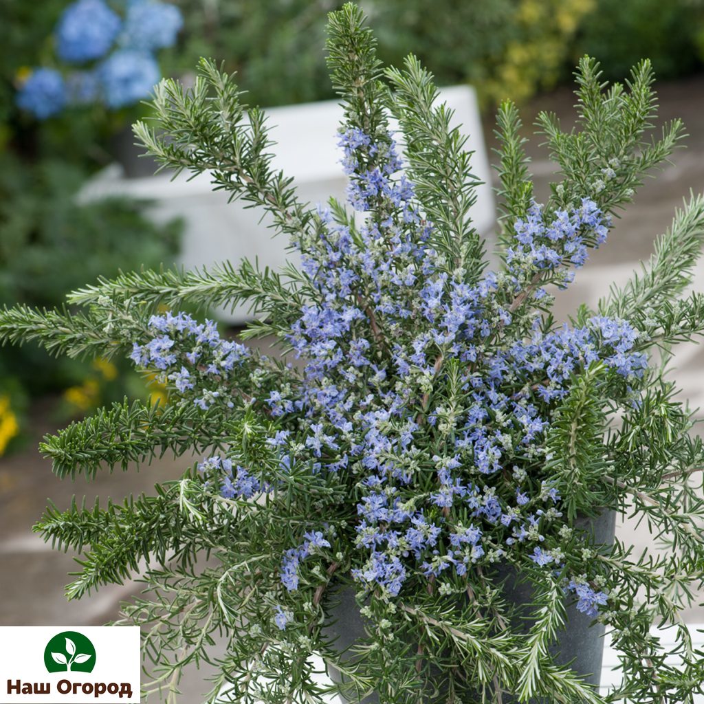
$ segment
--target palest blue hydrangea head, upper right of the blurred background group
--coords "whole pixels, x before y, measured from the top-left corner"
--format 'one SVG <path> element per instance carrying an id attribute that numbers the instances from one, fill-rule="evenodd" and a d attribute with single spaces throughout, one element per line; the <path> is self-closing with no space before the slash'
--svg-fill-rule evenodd
<path id="1" fill-rule="evenodd" d="M 182 26 L 183 17 L 174 5 L 141 0 L 130 4 L 120 41 L 130 49 L 164 49 L 175 44 Z"/>

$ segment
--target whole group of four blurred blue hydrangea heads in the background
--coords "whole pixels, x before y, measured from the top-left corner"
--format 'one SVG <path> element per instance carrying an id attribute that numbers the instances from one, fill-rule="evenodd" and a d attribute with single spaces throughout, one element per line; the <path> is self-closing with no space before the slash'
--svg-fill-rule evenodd
<path id="1" fill-rule="evenodd" d="M 94 101 L 116 109 L 146 98 L 161 77 L 155 52 L 172 46 L 183 24 L 179 9 L 159 0 L 132 0 L 125 17 L 105 0 L 76 0 L 56 26 L 56 53 L 71 65 L 65 76 L 37 68 L 21 82 L 18 105 L 40 120 L 67 105 Z"/>

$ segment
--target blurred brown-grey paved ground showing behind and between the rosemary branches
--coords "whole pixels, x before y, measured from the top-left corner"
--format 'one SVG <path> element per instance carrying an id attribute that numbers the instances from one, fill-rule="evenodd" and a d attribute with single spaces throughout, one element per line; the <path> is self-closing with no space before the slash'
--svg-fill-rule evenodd
<path id="1" fill-rule="evenodd" d="M 663 232 L 672 220 L 674 209 L 682 199 L 704 190 L 704 77 L 695 77 L 677 83 L 663 84 L 660 90 L 661 117 L 684 119 L 689 138 L 686 149 L 679 149 L 657 180 L 648 180 L 636 203 L 617 223 L 610 234 L 608 245 L 592 257 L 577 281 L 562 294 L 557 303 L 558 317 L 565 318 L 582 301 L 596 303 L 612 282 L 623 282 L 639 261 L 650 256 L 653 239 Z M 555 111 L 563 125 L 572 122 L 574 96 L 560 90 L 537 99 L 524 110 L 524 122 L 530 125 L 539 110 Z M 491 125 L 487 122 L 487 125 Z M 490 128 L 486 138 L 493 143 Z M 536 198 L 548 194 L 548 184 L 554 165 L 548 161 L 544 149 L 529 146 L 533 158 L 532 170 L 536 177 Z M 704 266 L 698 268 L 696 285 L 704 282 Z M 704 406 L 704 355 L 695 345 L 683 346 L 677 355 L 676 369 L 683 397 L 694 407 Z M 80 625 L 103 624 L 115 618 L 120 600 L 138 589 L 135 584 L 104 587 L 97 595 L 80 602 L 67 603 L 63 586 L 67 573 L 75 568 L 70 555 L 51 551 L 38 536 L 32 534 L 32 524 L 41 515 L 46 498 L 60 508 L 70 503 L 73 494 L 85 494 L 88 501 L 95 496 L 118 499 L 130 492 L 151 491 L 155 482 L 176 477 L 189 458 L 175 461 L 163 458 L 142 471 L 125 474 L 107 472 L 87 484 L 59 482 L 51 474 L 49 463 L 39 457 L 34 448 L 44 432 L 55 429 L 49 420 L 46 404 L 34 409 L 34 437 L 30 447 L 21 453 L 0 460 L 0 625 Z M 646 526 L 636 526 L 622 520 L 618 527 L 622 541 L 632 543 L 636 553 L 653 544 Z M 689 622 L 704 622 L 704 609 L 696 607 L 686 614 Z M 203 691 L 201 676 L 196 673 L 184 684 L 184 702 L 198 701 Z"/>

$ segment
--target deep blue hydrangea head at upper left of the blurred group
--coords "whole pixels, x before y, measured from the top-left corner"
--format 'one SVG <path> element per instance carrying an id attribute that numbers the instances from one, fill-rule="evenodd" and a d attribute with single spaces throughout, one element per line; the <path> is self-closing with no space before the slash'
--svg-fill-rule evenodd
<path id="1" fill-rule="evenodd" d="M 56 52 L 63 61 L 83 63 L 105 56 L 122 22 L 103 0 L 78 0 L 63 11 L 56 28 Z"/>

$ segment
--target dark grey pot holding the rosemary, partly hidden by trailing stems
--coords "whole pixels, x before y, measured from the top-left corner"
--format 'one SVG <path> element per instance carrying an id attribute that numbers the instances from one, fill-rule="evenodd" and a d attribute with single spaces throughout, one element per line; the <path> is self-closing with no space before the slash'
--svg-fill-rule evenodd
<path id="1" fill-rule="evenodd" d="M 616 514 L 612 511 L 605 512 L 596 518 L 578 518 L 578 527 L 582 527 L 593 535 L 597 544 L 611 545 L 614 540 L 616 527 Z M 532 603 L 532 588 L 527 582 L 520 582 L 518 574 L 513 569 L 504 567 L 498 572 L 499 579 L 505 579 L 504 596 L 506 601 L 518 606 L 518 621 L 513 624 L 516 629 L 527 631 L 530 627 L 529 620 L 521 619 L 521 605 L 525 605 L 525 613 L 529 615 Z M 323 629 L 323 634 L 329 639 L 334 639 L 333 647 L 342 652 L 365 638 L 365 619 L 360 615 L 355 601 L 354 590 L 343 589 L 334 595 L 334 604 L 328 610 L 329 617 L 334 623 Z M 577 611 L 577 606 L 572 604 L 567 607 L 567 620 L 565 629 L 558 634 L 558 640 L 550 648 L 551 655 L 560 665 L 572 663 L 575 674 L 579 674 L 589 684 L 598 687 L 601 679 L 601 662 L 603 657 L 604 627 L 594 622 L 593 619 Z M 349 662 L 353 662 L 350 655 Z M 329 676 L 334 682 L 341 684 L 344 681 L 339 670 L 330 667 Z M 344 699 L 345 701 L 351 701 Z M 377 704 L 377 694 L 359 700 L 359 704 Z M 504 704 L 512 704 L 517 699 L 503 696 Z M 531 704 L 549 704 L 539 698 L 530 700 Z"/>

